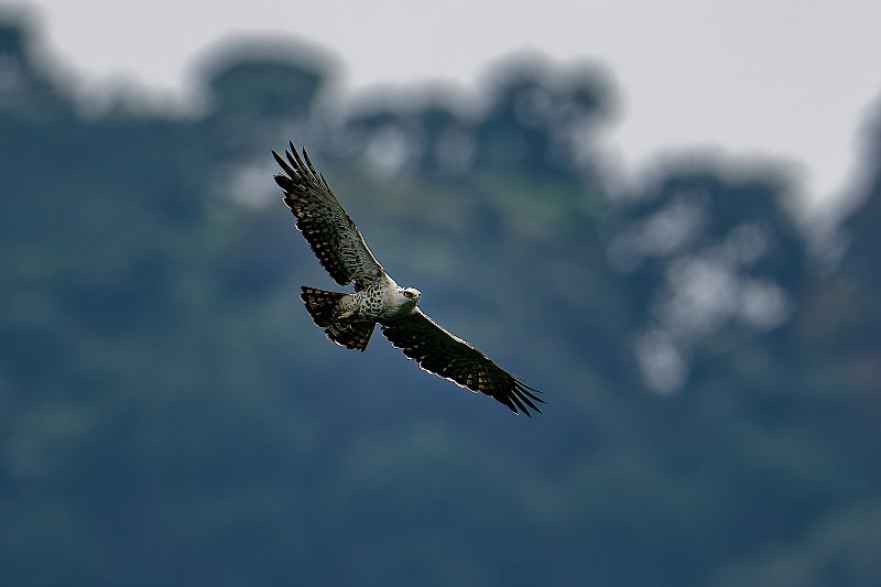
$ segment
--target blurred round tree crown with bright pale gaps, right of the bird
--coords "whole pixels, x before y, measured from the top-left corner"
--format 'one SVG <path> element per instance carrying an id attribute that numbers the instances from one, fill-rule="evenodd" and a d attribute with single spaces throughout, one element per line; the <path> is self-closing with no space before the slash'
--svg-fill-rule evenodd
<path id="1" fill-rule="evenodd" d="M 698 163 L 623 200 L 609 259 L 641 314 L 634 351 L 652 388 L 682 388 L 698 349 L 752 344 L 794 312 L 809 272 L 787 191 L 774 172 Z"/>

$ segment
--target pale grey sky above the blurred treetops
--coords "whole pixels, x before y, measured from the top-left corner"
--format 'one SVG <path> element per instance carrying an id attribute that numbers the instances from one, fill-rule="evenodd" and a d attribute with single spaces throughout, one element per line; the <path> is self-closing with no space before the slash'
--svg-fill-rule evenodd
<path id="1" fill-rule="evenodd" d="M 293 36 L 347 94 L 423 81 L 478 88 L 514 52 L 597 62 L 622 108 L 605 144 L 622 173 L 713 148 L 801 173 L 818 210 L 858 182 L 860 128 L 881 107 L 877 0 L 31 0 L 51 55 L 87 86 L 187 96 L 224 40 Z"/>

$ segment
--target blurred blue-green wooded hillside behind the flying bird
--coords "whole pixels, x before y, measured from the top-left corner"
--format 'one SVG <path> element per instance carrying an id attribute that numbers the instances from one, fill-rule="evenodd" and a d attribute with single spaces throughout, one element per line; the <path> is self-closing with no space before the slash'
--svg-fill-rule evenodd
<path id="1" fill-rule="evenodd" d="M 590 61 L 359 94 L 240 40 L 182 105 L 83 91 L 35 14 L 0 11 L 0 584 L 881 585 L 881 102 L 816 207 L 755 153 L 622 173 Z M 544 415 L 322 336 L 289 139 Z"/>

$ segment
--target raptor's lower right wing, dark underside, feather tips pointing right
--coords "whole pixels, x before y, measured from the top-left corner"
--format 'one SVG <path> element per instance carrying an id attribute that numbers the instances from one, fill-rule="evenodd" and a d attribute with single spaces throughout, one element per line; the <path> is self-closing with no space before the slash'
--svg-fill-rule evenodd
<path id="1" fill-rule="evenodd" d="M 531 388 L 475 347 L 444 329 L 417 307 L 404 318 L 382 325 L 382 334 L 392 345 L 403 349 L 409 359 L 424 370 L 449 379 L 471 391 L 479 391 L 500 401 L 515 414 L 527 416 L 530 409 L 540 414 L 535 403 L 546 403 Z M 534 392 L 534 393 L 533 393 Z"/>

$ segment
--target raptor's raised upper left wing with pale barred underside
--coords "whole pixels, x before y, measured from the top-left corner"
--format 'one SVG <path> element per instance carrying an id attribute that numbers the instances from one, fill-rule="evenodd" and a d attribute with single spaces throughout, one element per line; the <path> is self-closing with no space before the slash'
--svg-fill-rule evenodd
<path id="1" fill-rule="evenodd" d="M 330 276 L 340 285 L 354 281 L 356 290 L 363 289 L 384 273 L 382 265 L 367 248 L 360 230 L 337 202 L 324 175 L 315 171 L 306 150 L 303 150 L 304 163 L 294 143 L 290 145 L 291 150 L 284 151 L 287 161 L 272 152 L 285 173 L 275 176 L 275 183 L 284 191 L 284 204 Z"/>

